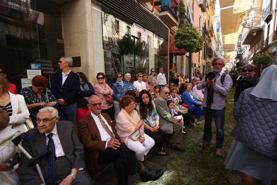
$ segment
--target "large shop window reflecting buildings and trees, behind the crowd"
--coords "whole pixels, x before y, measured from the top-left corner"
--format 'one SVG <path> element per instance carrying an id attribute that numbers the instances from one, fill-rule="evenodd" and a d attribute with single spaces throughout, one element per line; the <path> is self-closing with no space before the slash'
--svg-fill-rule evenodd
<path id="1" fill-rule="evenodd" d="M 118 29 L 119 25 L 126 29 Z M 157 72 L 161 66 L 167 70 L 168 42 L 151 31 L 102 12 L 102 34 L 108 85 L 116 81 L 117 72 L 130 73 L 133 82 L 139 72 L 149 75 L 149 66 Z"/>

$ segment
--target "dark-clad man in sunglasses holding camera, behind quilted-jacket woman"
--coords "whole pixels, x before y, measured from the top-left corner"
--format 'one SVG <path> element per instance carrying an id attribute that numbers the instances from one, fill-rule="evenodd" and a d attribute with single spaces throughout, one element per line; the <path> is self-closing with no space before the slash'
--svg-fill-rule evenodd
<path id="1" fill-rule="evenodd" d="M 243 66 L 243 75 L 240 76 L 238 80 L 238 86 L 235 90 L 234 94 L 234 101 L 237 102 L 240 96 L 240 93 L 243 92 L 243 90 L 251 87 L 255 87 L 256 84 L 259 82 L 259 77 L 256 76 L 257 72 L 257 66 L 254 64 L 247 64 Z"/>

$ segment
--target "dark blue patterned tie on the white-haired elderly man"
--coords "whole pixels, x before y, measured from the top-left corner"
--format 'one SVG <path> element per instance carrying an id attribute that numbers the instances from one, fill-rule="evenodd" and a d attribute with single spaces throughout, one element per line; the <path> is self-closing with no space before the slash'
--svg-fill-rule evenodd
<path id="1" fill-rule="evenodd" d="M 52 154 L 47 156 L 46 165 L 45 165 L 45 182 L 47 185 L 52 185 L 56 180 L 56 172 L 55 172 L 55 144 L 52 139 L 53 133 L 47 135 L 49 138 L 47 148 L 52 150 Z"/>

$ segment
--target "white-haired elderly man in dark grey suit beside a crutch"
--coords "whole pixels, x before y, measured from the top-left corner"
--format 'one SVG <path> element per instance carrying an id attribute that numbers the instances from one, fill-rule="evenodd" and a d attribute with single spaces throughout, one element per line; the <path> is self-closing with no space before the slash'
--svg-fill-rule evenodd
<path id="1" fill-rule="evenodd" d="M 47 150 L 52 154 L 38 160 L 47 185 L 52 184 L 94 184 L 85 170 L 84 149 L 75 133 L 71 121 L 59 121 L 58 110 L 45 107 L 38 111 L 38 127 L 26 132 L 23 148 L 32 157 Z M 17 170 L 20 183 L 43 184 L 36 167 L 24 155 L 21 155 Z"/>

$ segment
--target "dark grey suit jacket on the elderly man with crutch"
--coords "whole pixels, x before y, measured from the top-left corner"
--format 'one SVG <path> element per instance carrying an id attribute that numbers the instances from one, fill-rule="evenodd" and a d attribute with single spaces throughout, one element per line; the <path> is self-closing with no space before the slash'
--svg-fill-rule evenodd
<path id="1" fill-rule="evenodd" d="M 71 121 L 58 121 L 57 130 L 59 139 L 62 144 L 62 150 L 65 157 L 72 163 L 72 168 L 86 168 L 84 162 L 84 149 L 77 134 L 74 130 L 74 125 Z M 23 148 L 32 156 L 36 157 L 38 154 L 46 151 L 46 136 L 44 133 L 38 131 L 38 127 L 26 132 L 28 135 L 23 139 Z M 47 156 L 41 158 L 38 161 L 42 173 L 45 168 Z M 24 184 L 42 184 L 36 167 L 30 162 L 30 160 L 22 153 L 19 161 L 19 167 L 17 170 L 20 183 Z"/>

